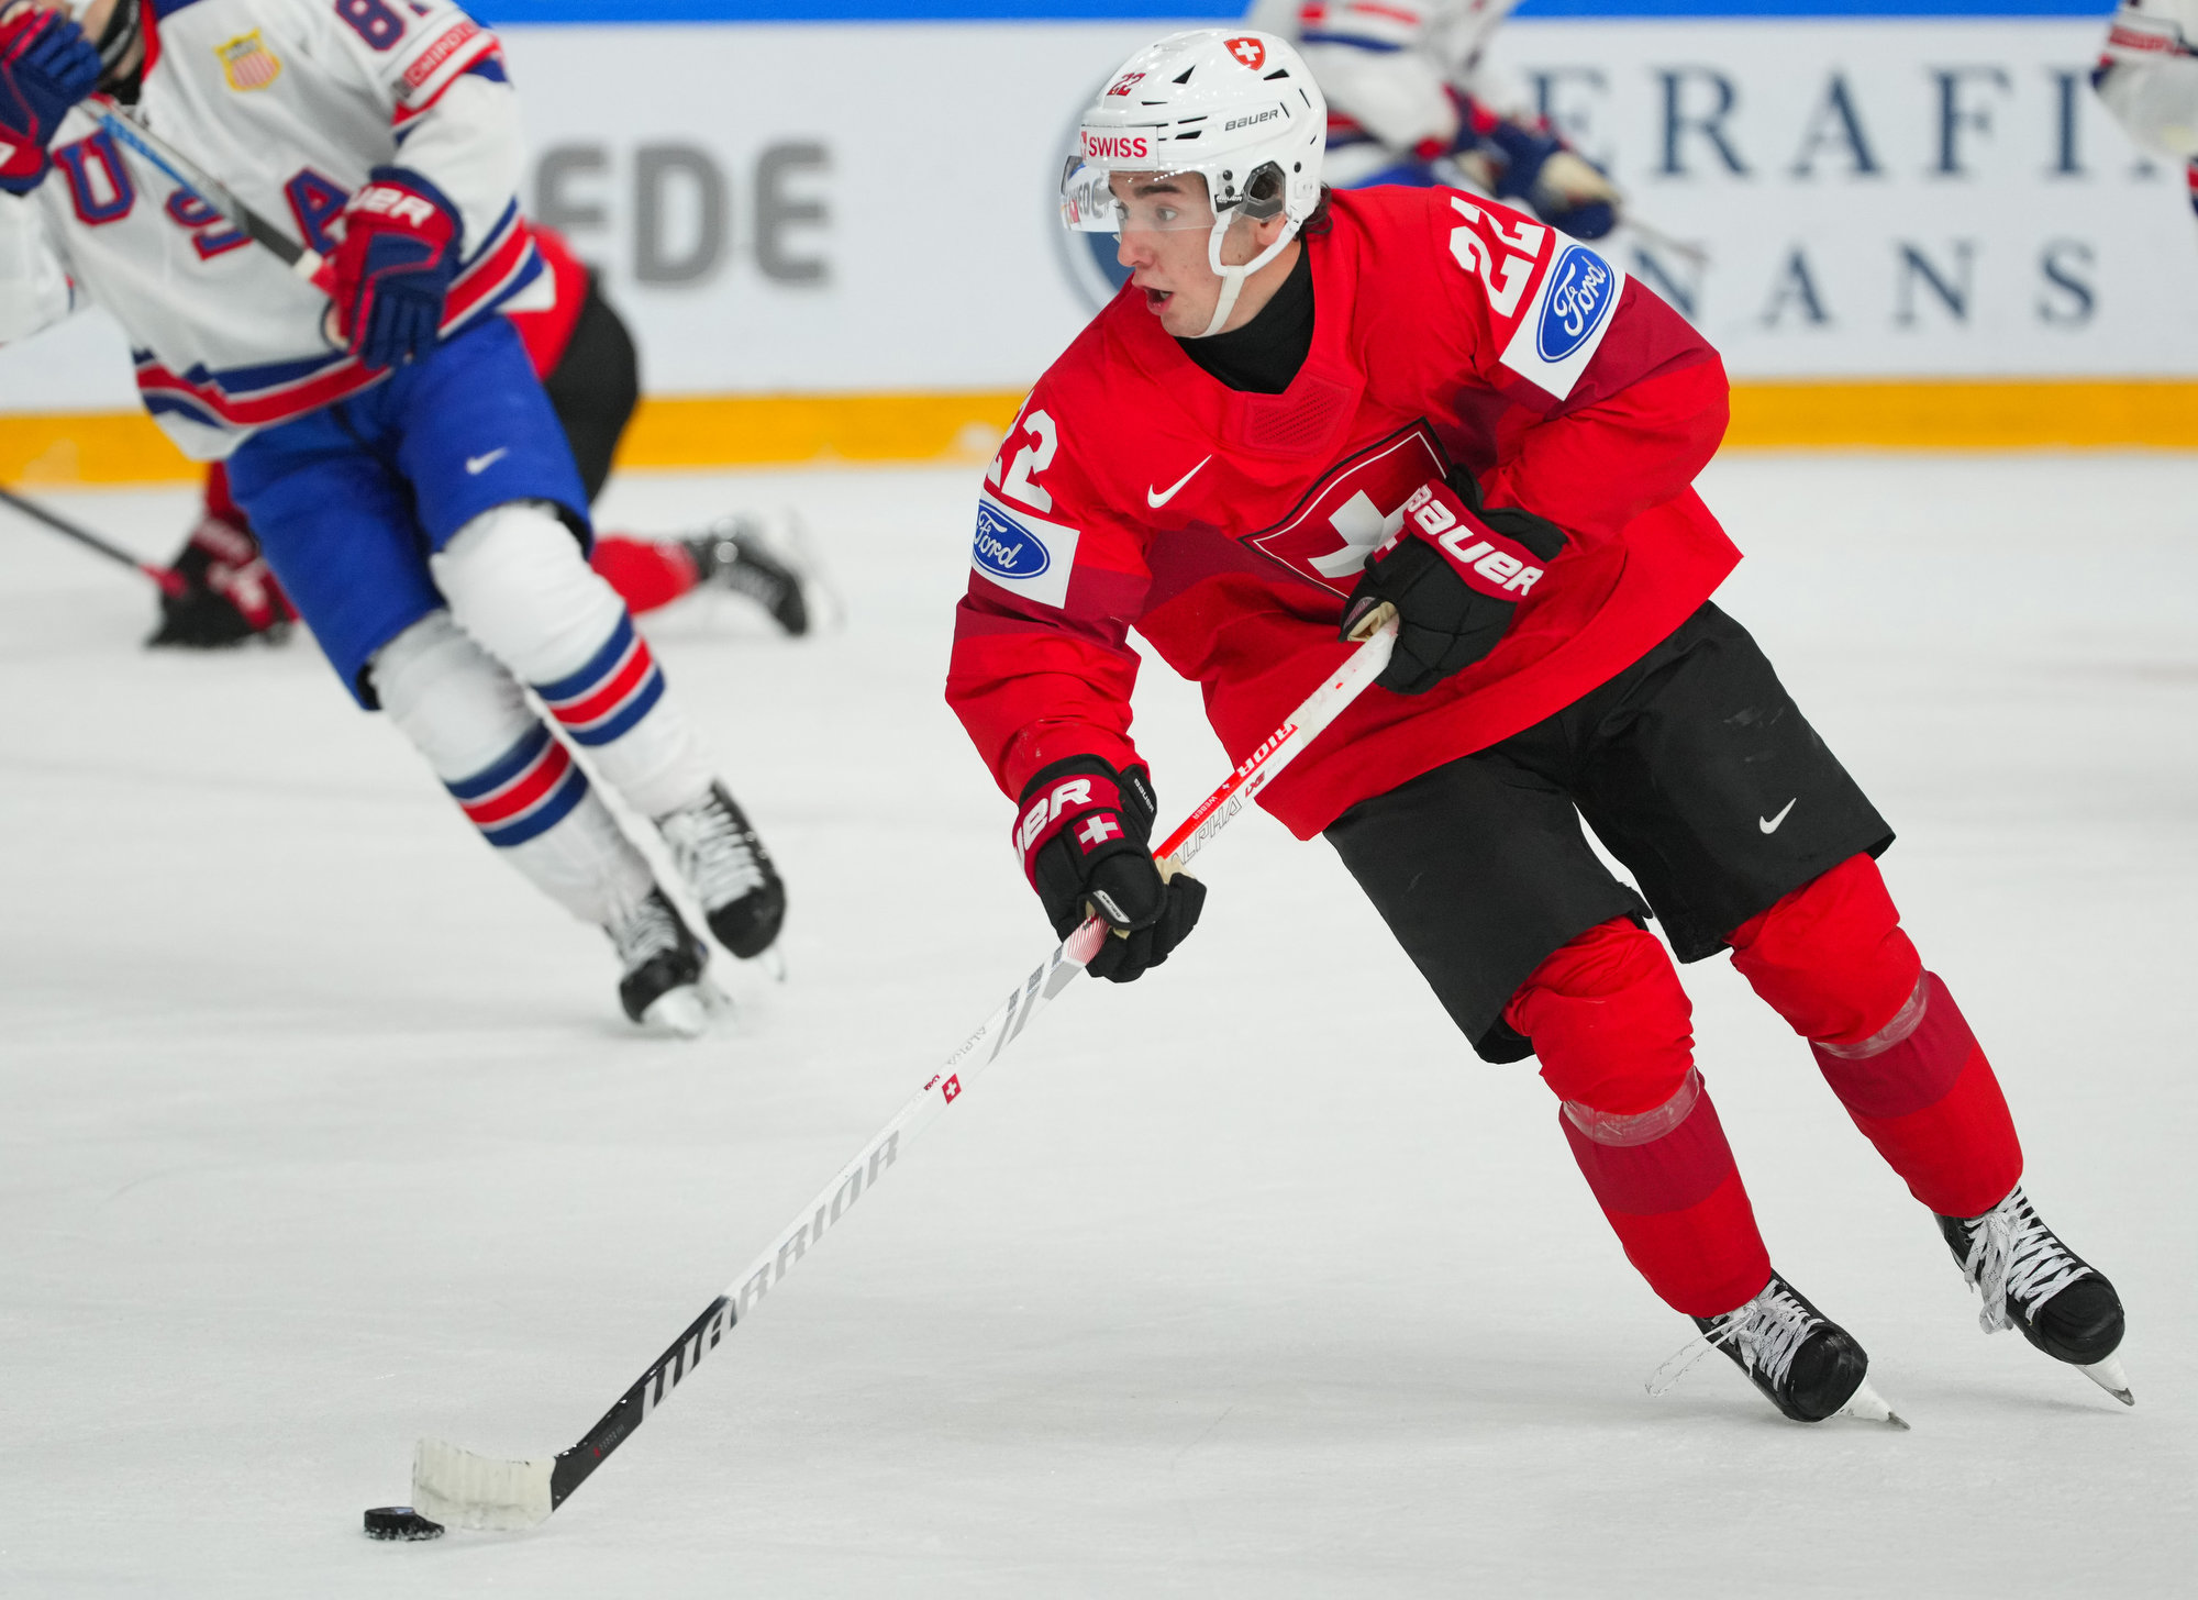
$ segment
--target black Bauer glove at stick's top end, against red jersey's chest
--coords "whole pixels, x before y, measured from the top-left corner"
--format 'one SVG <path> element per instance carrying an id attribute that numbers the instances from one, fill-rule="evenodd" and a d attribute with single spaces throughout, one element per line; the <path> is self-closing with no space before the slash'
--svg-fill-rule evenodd
<path id="1" fill-rule="evenodd" d="M 1367 611 L 1394 604 L 1396 655 L 1374 681 L 1396 695 L 1424 695 L 1497 648 L 1519 600 L 1563 547 L 1556 523 L 1481 510 L 1479 484 L 1453 468 L 1405 501 L 1405 525 L 1367 556 L 1339 633 L 1347 640 Z"/>

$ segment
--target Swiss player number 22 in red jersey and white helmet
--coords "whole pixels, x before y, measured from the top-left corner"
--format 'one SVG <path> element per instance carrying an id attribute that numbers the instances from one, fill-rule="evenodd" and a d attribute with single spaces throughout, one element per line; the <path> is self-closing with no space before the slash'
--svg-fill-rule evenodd
<path id="1" fill-rule="evenodd" d="M 1539 1057 L 1651 1288 L 1785 1415 L 1890 1415 L 1772 1268 L 1653 914 L 1809 1042 L 1985 1327 L 2128 1398 L 2121 1303 L 2024 1198 L 1991 1066 L 1901 932 L 1890 826 L 1710 602 L 1739 560 L 1692 490 L 1717 352 L 1530 215 L 1325 191 L 1321 127 L 1281 40 L 1178 33 L 1064 174 L 1132 279 L 991 464 L 947 679 L 1055 930 L 1097 908 L 1125 936 L 1090 969 L 1123 982 L 1205 899 L 1147 855 L 1132 626 L 1242 760 L 1389 602 L 1391 664 L 1262 804 L 1330 840 L 1484 1059 Z"/>

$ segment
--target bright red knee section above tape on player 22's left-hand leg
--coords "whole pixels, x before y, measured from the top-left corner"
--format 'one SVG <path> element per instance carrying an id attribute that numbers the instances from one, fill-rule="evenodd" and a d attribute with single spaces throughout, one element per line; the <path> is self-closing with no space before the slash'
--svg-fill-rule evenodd
<path id="1" fill-rule="evenodd" d="M 1655 1110 L 1695 1066 L 1695 1011 L 1679 974 L 1664 947 L 1622 916 L 1543 960 L 1503 1020 L 1534 1042 L 1558 1099 L 1598 1112 Z"/>

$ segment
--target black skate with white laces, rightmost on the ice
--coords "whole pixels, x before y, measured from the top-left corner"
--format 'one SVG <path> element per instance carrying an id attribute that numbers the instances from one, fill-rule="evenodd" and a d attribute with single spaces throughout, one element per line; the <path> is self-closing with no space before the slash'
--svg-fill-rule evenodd
<path id="1" fill-rule="evenodd" d="M 1939 1233 L 1985 1301 L 1976 1321 L 1987 1334 L 2020 1327 L 2053 1360 L 2079 1367 L 2121 1404 L 2136 1404 L 2114 1356 L 2121 1297 L 2038 1218 L 2022 1185 L 1980 1218 L 1939 1218 Z"/>

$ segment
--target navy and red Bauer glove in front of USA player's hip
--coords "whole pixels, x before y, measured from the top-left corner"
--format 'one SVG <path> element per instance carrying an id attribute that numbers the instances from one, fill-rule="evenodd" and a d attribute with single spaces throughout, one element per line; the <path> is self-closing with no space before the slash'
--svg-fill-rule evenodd
<path id="1" fill-rule="evenodd" d="M 334 305 L 343 347 L 371 369 L 420 360 L 457 277 L 457 209 L 420 174 L 376 167 L 338 226 L 343 240 L 312 281 Z"/>

